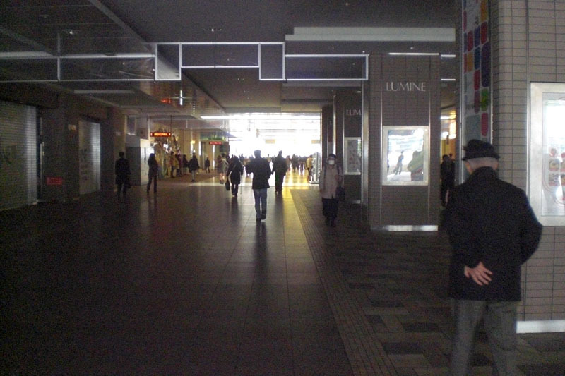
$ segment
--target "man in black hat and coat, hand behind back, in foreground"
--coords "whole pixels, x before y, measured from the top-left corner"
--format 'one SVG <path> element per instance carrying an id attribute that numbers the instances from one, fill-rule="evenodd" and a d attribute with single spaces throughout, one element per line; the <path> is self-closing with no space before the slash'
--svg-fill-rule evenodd
<path id="1" fill-rule="evenodd" d="M 453 248 L 449 291 L 456 334 L 450 375 L 468 375 L 481 318 L 494 374 L 517 375 L 516 307 L 521 265 L 535 252 L 542 231 L 523 190 L 501 181 L 499 155 L 488 142 L 464 147 L 470 176 L 450 193 L 444 229 Z"/>

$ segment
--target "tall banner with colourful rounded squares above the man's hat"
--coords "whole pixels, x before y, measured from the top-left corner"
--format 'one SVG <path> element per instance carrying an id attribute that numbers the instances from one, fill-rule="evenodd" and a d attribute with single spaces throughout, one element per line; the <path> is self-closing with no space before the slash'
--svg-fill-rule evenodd
<path id="1" fill-rule="evenodd" d="M 489 0 L 463 1 L 463 144 L 491 138 Z"/>

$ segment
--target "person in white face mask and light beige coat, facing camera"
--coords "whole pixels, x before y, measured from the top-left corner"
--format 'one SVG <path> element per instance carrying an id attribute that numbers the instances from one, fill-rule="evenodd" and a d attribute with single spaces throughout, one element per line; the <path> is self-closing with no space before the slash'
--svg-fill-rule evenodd
<path id="1" fill-rule="evenodd" d="M 338 217 L 338 194 L 335 191 L 342 181 L 340 169 L 335 159 L 335 154 L 328 155 L 328 161 L 323 166 L 319 183 L 322 197 L 322 213 L 326 217 L 326 224 L 332 227 L 335 227 L 335 218 Z"/>

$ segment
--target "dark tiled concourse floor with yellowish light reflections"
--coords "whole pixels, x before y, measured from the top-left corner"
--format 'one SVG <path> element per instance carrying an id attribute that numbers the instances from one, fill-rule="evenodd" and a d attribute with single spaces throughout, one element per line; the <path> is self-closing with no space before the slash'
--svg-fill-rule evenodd
<path id="1" fill-rule="evenodd" d="M 249 181 L 159 184 L 0 212 L 2 374 L 445 374 L 443 234 L 371 234 L 355 205 L 328 228 L 298 174 L 261 224 Z M 565 374 L 565 334 L 519 344 L 523 375 Z"/>

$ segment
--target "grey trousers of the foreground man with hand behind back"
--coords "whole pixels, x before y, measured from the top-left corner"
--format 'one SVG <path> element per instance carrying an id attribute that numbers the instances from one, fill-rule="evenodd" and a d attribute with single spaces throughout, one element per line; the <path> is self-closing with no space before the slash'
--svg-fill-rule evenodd
<path id="1" fill-rule="evenodd" d="M 456 333 L 449 375 L 471 375 L 470 360 L 475 330 L 484 318 L 493 358 L 493 375 L 518 375 L 516 368 L 516 306 L 514 301 L 453 300 Z"/>

